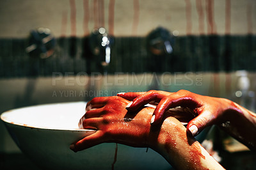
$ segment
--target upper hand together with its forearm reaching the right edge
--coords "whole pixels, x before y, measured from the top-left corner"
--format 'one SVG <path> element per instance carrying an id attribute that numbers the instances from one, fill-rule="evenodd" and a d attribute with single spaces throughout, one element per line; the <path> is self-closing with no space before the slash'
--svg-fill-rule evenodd
<path id="1" fill-rule="evenodd" d="M 187 132 L 197 135 L 205 127 L 220 125 L 228 134 L 252 150 L 256 150 L 256 116 L 253 112 L 225 98 L 202 96 L 190 91 L 180 90 L 175 93 L 148 91 L 147 93 L 119 93 L 119 97 L 131 100 L 129 111 L 135 111 L 141 105 L 157 104 L 151 123 L 157 125 L 169 109 L 188 108 L 195 118 L 189 121 Z M 155 103 L 156 102 L 156 103 Z"/>

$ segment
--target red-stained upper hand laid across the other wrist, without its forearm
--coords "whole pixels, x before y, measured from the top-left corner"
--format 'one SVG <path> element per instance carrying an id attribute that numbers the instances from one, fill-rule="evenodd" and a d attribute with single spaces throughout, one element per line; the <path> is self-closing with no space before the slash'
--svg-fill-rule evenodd
<path id="1" fill-rule="evenodd" d="M 155 116 L 152 116 L 152 125 L 161 122 L 164 113 L 171 108 L 180 106 L 191 109 L 196 116 L 187 126 L 191 135 L 197 135 L 209 125 L 220 123 L 223 113 L 232 107 L 230 100 L 197 95 L 186 90 L 176 93 L 151 90 L 147 93 L 119 93 L 118 96 L 132 100 L 127 108 L 129 111 L 136 111 L 141 105 L 148 103 L 159 103 L 153 114 Z"/>

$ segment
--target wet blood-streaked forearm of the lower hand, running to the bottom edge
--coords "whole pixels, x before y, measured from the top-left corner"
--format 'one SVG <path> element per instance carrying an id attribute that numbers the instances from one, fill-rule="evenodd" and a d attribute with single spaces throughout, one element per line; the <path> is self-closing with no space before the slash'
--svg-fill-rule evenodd
<path id="1" fill-rule="evenodd" d="M 156 134 L 159 135 L 157 141 L 152 141 L 152 148 L 175 169 L 223 169 L 195 138 L 188 137 L 184 125 L 175 118 L 166 118 Z"/>

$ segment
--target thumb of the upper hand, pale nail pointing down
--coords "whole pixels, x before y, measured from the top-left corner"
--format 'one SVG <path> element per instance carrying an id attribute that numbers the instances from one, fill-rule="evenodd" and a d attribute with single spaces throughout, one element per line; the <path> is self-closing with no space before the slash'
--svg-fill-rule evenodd
<path id="1" fill-rule="evenodd" d="M 202 130 L 204 130 L 205 127 L 211 126 L 216 121 L 215 116 L 213 116 L 212 112 L 210 111 L 204 111 L 193 120 L 189 121 L 187 126 L 187 132 L 191 136 L 196 136 Z"/>

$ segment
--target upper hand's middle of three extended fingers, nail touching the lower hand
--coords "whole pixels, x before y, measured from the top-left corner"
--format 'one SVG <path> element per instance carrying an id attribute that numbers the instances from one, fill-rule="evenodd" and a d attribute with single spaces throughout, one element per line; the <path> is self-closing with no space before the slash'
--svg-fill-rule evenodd
<path id="1" fill-rule="evenodd" d="M 143 95 L 134 98 L 134 100 L 132 100 L 132 104 L 128 105 L 129 107 L 127 107 L 127 110 L 136 111 L 141 106 L 150 102 L 159 102 L 163 97 L 166 97 L 166 95 L 164 93 L 161 93 L 161 91 L 150 90 L 147 93 L 144 93 Z"/>

